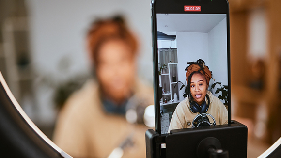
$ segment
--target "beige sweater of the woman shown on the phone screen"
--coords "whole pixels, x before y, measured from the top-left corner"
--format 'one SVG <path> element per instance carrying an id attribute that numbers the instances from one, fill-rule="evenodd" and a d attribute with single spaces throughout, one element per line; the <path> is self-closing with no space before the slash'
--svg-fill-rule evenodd
<path id="1" fill-rule="evenodd" d="M 225 108 L 225 106 L 222 104 L 222 102 L 214 96 L 210 91 L 207 91 L 207 94 L 210 96 L 210 106 L 207 111 L 207 113 L 211 114 L 215 120 L 217 125 L 223 125 L 228 123 L 228 111 Z M 170 130 L 172 129 L 183 129 L 183 128 L 189 128 L 192 126 L 192 121 L 199 114 L 193 113 L 189 109 L 190 104 L 188 97 L 181 101 L 173 115 L 170 122 L 168 133 L 170 133 Z M 210 123 L 213 123 L 213 119 L 208 116 Z"/>

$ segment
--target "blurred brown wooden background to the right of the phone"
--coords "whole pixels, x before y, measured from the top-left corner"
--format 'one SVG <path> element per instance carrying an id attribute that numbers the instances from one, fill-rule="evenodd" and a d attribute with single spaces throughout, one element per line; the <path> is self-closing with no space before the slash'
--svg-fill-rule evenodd
<path id="1" fill-rule="evenodd" d="M 281 1 L 229 6 L 233 119 L 248 126 L 248 158 L 256 158 L 281 136 Z"/>

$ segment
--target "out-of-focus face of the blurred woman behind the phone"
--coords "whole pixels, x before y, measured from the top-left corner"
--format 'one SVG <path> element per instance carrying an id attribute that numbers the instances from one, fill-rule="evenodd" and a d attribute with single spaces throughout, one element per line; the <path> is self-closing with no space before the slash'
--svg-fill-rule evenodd
<path id="1" fill-rule="evenodd" d="M 115 102 L 130 95 L 135 76 L 135 60 L 130 48 L 122 40 L 110 40 L 101 45 L 96 76 L 102 91 Z"/>

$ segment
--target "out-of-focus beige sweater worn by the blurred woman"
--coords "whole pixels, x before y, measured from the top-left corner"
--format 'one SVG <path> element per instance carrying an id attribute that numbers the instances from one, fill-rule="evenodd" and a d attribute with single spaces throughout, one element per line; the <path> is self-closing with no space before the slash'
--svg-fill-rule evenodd
<path id="1" fill-rule="evenodd" d="M 135 94 L 153 104 L 152 88 L 139 84 Z M 125 148 L 123 158 L 145 158 L 144 125 L 129 124 L 125 116 L 104 112 L 94 80 L 72 95 L 64 105 L 54 131 L 54 142 L 75 158 L 106 158 L 128 135 L 133 146 Z"/>

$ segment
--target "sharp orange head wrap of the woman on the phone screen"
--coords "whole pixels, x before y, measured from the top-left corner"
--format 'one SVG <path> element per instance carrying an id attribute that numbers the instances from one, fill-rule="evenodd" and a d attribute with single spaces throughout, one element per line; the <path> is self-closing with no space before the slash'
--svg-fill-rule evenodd
<path id="1" fill-rule="evenodd" d="M 205 65 L 205 62 L 202 59 L 197 60 L 196 62 L 187 62 L 187 64 L 190 64 L 186 68 L 186 80 L 188 84 L 188 79 L 191 78 L 191 73 L 193 72 L 199 72 L 201 73 L 206 81 L 207 81 L 207 86 L 209 87 L 209 82 L 210 79 L 212 78 L 212 72 L 209 70 L 209 67 Z"/>

